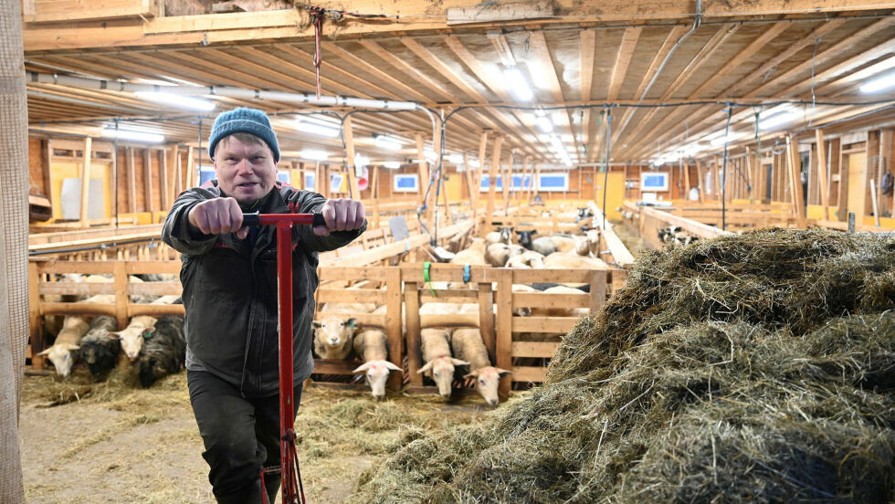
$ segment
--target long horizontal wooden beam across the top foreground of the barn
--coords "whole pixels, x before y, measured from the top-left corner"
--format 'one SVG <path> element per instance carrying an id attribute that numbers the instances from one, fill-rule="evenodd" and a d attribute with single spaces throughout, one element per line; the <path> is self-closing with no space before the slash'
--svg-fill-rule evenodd
<path id="1" fill-rule="evenodd" d="M 674 3 L 651 0 L 613 0 L 594 5 L 573 0 L 556 2 L 559 14 L 542 19 L 516 18 L 496 21 L 490 26 L 540 26 L 575 24 L 582 19 L 589 22 L 626 21 L 631 19 L 673 20 L 689 23 L 691 8 Z M 342 2 L 327 0 L 315 4 L 323 9 L 340 11 Z M 404 35 L 414 32 L 449 31 L 447 11 L 451 8 L 479 8 L 479 0 L 452 0 L 447 3 L 403 2 L 383 5 L 381 2 L 353 2 L 353 12 L 384 13 L 389 16 L 382 23 L 345 19 L 342 23 L 323 23 L 321 38 L 363 39 L 370 36 Z M 703 5 L 702 15 L 713 18 L 733 16 L 774 16 L 814 14 L 816 12 L 844 12 L 879 9 L 872 0 L 839 0 L 831 5 L 825 0 L 733 0 Z M 398 16 L 400 15 L 400 16 Z M 90 11 L 82 16 L 89 17 Z M 55 50 L 79 47 L 163 47 L 169 45 L 216 45 L 252 40 L 312 41 L 314 27 L 307 22 L 307 14 L 299 9 L 226 13 L 198 16 L 166 16 L 124 20 L 96 19 L 73 25 L 59 23 L 26 25 L 23 30 L 27 51 Z"/>

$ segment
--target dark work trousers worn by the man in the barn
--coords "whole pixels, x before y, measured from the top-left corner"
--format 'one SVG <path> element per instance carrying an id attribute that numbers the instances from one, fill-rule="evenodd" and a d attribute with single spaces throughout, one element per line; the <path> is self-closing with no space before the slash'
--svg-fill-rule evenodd
<path id="1" fill-rule="evenodd" d="M 247 399 L 237 386 L 212 373 L 187 371 L 195 421 L 205 443 L 208 481 L 218 504 L 262 504 L 261 468 L 279 466 L 279 394 Z M 301 383 L 295 386 L 294 416 Z M 279 490 L 278 474 L 264 477 L 268 502 Z"/>

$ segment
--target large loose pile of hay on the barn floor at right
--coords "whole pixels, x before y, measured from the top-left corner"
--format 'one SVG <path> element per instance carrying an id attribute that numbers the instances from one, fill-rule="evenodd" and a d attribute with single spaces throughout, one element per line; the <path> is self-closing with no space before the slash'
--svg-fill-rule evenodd
<path id="1" fill-rule="evenodd" d="M 364 502 L 891 502 L 895 239 L 762 230 L 641 258 L 547 381 L 406 446 Z"/>

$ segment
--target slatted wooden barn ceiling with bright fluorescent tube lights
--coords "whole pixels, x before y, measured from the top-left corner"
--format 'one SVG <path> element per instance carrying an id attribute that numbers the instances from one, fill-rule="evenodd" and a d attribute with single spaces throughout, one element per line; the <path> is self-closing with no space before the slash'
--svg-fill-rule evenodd
<path id="1" fill-rule="evenodd" d="M 25 3 L 30 72 L 316 90 L 314 27 L 305 5 L 163 16 L 164 9 L 148 0 L 116 0 L 102 3 L 102 10 L 67 13 L 81 20 L 63 23 L 59 5 L 65 2 Z M 185 12 L 178 10 L 184 5 L 169 0 L 167 10 Z M 734 147 L 754 142 L 756 112 L 759 121 L 783 118 L 760 131 L 765 145 L 787 131 L 813 136 L 811 128 L 835 132 L 895 121 L 895 88 L 875 94 L 858 89 L 895 72 L 895 3 L 350 3 L 352 13 L 384 15 L 373 19 L 336 14 L 345 5 L 317 4 L 332 9 L 322 22 L 321 93 L 419 103 L 431 115 L 449 118 L 447 153 L 478 155 L 482 132 L 489 131 L 489 139 L 504 137 L 503 152 L 560 166 L 556 142 L 536 126 L 536 109 L 545 110 L 576 164 L 603 160 L 610 115 L 609 155 L 615 163 L 650 161 L 681 150 L 695 156 L 719 152 L 727 104 L 732 104 L 729 139 Z M 502 69 L 511 65 L 529 81 L 532 101 L 516 99 L 507 86 Z M 322 112 L 323 121 L 338 124 L 346 108 L 216 96 L 216 110 L 192 112 L 109 89 L 29 80 L 27 90 L 34 132 L 97 134 L 102 125 L 118 120 L 121 129 L 158 131 L 166 142 L 195 145 L 200 123 L 206 139 L 216 113 L 247 105 L 276 114 L 284 151 L 313 147 L 329 152 L 330 159 L 344 157 L 341 139 L 296 131 L 292 119 Z M 414 159 L 420 140 L 432 144 L 435 121 L 425 110 L 358 111 L 351 117 L 357 151 L 374 161 Z M 374 147 L 372 137 L 379 133 L 405 138 L 405 149 L 395 153 Z"/>

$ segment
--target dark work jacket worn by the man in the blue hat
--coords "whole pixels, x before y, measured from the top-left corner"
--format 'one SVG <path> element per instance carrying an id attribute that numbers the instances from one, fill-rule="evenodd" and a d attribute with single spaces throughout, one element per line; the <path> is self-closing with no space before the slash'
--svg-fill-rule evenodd
<path id="1" fill-rule="evenodd" d="M 188 352 L 205 371 L 233 383 L 246 397 L 279 392 L 279 314 L 276 226 L 260 226 L 254 246 L 235 234 L 190 230 L 197 204 L 226 196 L 217 181 L 184 191 L 164 221 L 164 243 L 182 253 L 184 331 Z M 251 211 L 261 214 L 318 212 L 326 199 L 279 182 Z M 311 321 L 317 289 L 317 253 L 342 247 L 356 231 L 316 236 L 311 226 L 292 226 L 292 352 L 295 383 L 313 371 Z"/>

